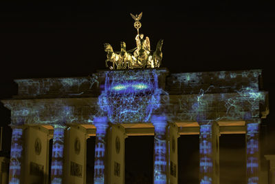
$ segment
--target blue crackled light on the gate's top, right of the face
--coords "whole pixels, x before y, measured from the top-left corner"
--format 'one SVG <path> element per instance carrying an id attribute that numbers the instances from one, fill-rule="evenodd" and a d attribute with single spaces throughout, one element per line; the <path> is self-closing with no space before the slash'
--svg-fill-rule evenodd
<path id="1" fill-rule="evenodd" d="M 201 109 L 217 111 L 215 120 L 243 119 L 246 112 L 258 118 L 259 103 L 266 100 L 266 93 L 259 91 L 259 77 L 261 70 L 171 74 L 166 79 L 167 90 L 170 95 L 182 95 L 177 98 L 179 110 L 175 113 L 171 108 L 168 119 L 194 121 Z M 201 102 L 208 109 L 201 108 Z"/>

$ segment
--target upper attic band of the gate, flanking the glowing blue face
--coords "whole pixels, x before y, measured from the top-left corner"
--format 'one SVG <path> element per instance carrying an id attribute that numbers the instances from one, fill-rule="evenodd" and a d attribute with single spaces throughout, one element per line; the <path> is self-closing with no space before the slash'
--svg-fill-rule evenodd
<path id="1" fill-rule="evenodd" d="M 168 94 L 230 93 L 243 89 L 261 90 L 261 70 L 188 72 L 168 74 L 166 68 L 142 70 L 100 70 L 84 77 L 17 79 L 18 94 L 14 99 L 54 99 L 97 97 L 104 90 L 106 74 L 123 78 L 131 72 L 155 71 L 159 88 Z"/>

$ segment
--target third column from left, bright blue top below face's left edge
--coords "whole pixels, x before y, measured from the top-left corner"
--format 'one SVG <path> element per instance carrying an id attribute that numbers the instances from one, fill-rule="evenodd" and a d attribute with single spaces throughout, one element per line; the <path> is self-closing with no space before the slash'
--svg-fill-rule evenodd
<path id="1" fill-rule="evenodd" d="M 96 126 L 94 184 L 104 184 L 104 183 L 107 183 L 106 170 L 105 170 L 106 132 L 107 132 L 107 127 L 109 127 L 107 117 L 106 116 L 95 117 L 94 125 Z"/>

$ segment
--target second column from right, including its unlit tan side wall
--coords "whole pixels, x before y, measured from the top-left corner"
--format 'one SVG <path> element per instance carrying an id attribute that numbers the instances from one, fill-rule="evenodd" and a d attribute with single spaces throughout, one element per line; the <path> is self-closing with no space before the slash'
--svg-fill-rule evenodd
<path id="1" fill-rule="evenodd" d="M 219 184 L 219 125 L 199 122 L 199 182 Z"/>

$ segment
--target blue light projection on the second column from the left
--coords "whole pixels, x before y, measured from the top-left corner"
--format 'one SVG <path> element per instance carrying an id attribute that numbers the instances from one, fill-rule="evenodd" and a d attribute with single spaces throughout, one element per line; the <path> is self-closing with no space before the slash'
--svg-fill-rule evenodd
<path id="1" fill-rule="evenodd" d="M 62 184 L 63 178 L 63 152 L 64 152 L 65 126 L 54 125 L 54 138 L 52 143 L 51 184 Z"/>

